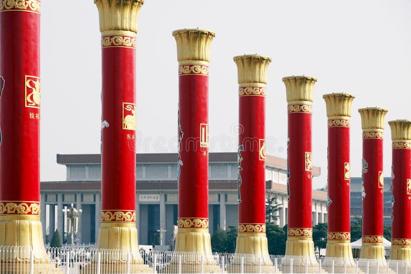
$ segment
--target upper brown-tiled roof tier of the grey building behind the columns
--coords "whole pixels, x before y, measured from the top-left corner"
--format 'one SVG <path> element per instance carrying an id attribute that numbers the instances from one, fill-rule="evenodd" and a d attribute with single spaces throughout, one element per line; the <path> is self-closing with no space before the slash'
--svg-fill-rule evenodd
<path id="1" fill-rule="evenodd" d="M 177 163 L 177 153 L 138 153 L 137 163 Z M 210 163 L 237 162 L 237 152 L 211 152 Z M 101 154 L 57 154 L 57 163 L 61 165 L 101 164 Z M 267 155 L 268 166 L 287 169 L 287 160 Z M 312 175 L 320 176 L 320 167 L 312 167 Z"/>

